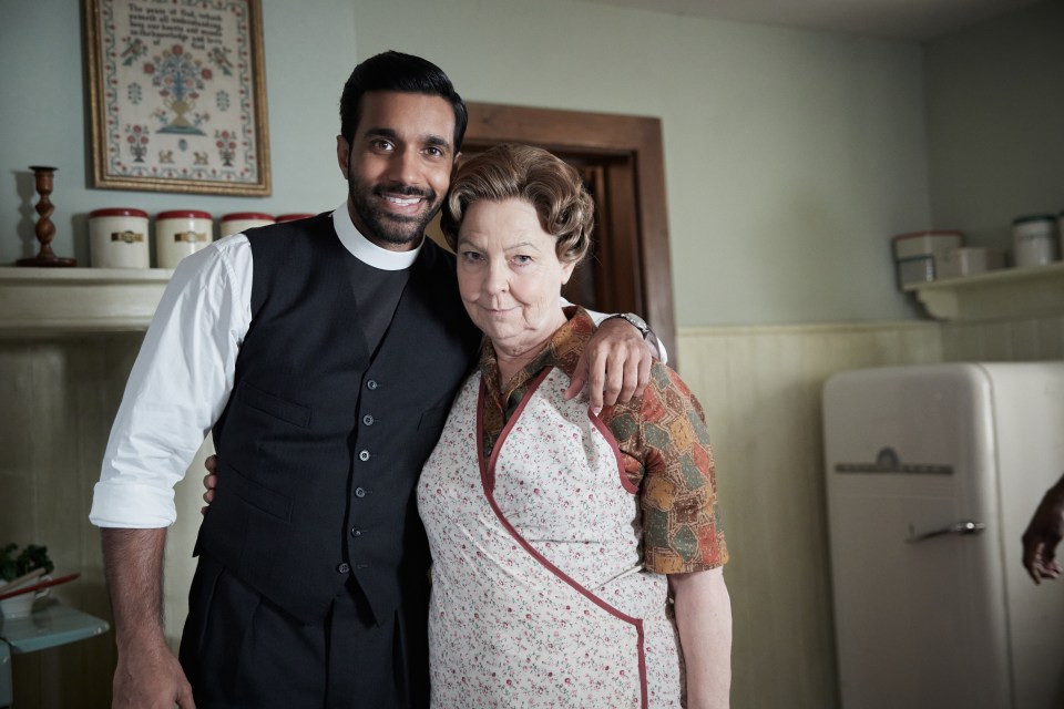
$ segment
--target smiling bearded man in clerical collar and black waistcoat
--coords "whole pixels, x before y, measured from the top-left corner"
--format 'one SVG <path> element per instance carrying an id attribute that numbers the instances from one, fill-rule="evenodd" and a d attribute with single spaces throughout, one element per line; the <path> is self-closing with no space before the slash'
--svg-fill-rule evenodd
<path id="1" fill-rule="evenodd" d="M 437 66 L 387 52 L 355 69 L 340 115 L 346 204 L 185 259 L 133 367 L 90 515 L 104 527 L 115 707 L 427 702 L 411 493 L 480 333 L 453 257 L 423 233 L 466 106 Z M 631 397 L 649 369 L 635 329 L 602 330 L 593 407 L 604 387 L 607 404 Z M 178 664 L 160 623 L 165 526 L 208 430 L 221 492 Z"/>

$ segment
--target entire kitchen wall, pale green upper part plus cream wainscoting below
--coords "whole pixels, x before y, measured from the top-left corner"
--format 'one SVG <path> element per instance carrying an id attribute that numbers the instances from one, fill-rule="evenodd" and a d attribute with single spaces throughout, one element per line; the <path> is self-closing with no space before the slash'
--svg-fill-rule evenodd
<path id="1" fill-rule="evenodd" d="M 0 73 L 0 165 L 8 176 L 0 189 L 0 234 L 8 235 L 0 239 L 0 261 L 35 248 L 30 164 L 60 165 L 54 202 L 61 253 L 83 257 L 83 237 L 75 235 L 79 228 L 83 234 L 92 208 L 130 199 L 150 212 L 188 204 L 180 195 L 85 187 L 85 121 L 71 110 L 82 96 L 71 69 L 81 55 L 73 6 L 14 0 L 3 8 L 0 61 L 19 71 Z M 328 0 L 314 7 L 264 0 L 275 196 L 197 197 L 198 206 L 222 214 L 338 203 L 336 94 L 358 58 L 388 48 L 437 60 L 470 100 L 663 117 L 678 354 L 709 415 L 734 554 L 727 569 L 736 618 L 733 703 L 836 706 L 819 423 L 823 380 L 864 366 L 1064 356 L 1057 319 L 943 328 L 899 322 L 915 310 L 893 289 L 887 237 L 927 226 L 932 205 L 940 224 L 978 230 L 989 192 L 966 188 L 979 171 L 962 160 L 964 144 L 938 145 L 949 143 L 952 123 L 985 106 L 963 103 L 964 95 L 944 103 L 929 96 L 925 138 L 923 50 L 903 43 L 562 0 Z M 1062 35 L 1055 12 L 1033 17 L 1056 24 L 1040 32 L 1032 27 L 1039 22 L 1021 18 L 1024 37 L 1037 40 L 1026 48 L 1005 42 L 993 25 L 972 30 L 985 32 L 972 35 L 979 41 L 932 43 L 932 94 L 954 82 L 994 96 L 1025 84 L 1031 68 L 1023 58 L 1053 55 Z M 983 45 L 993 51 L 984 56 Z M 40 48 L 50 52 L 45 60 L 34 59 Z M 1014 56 L 1021 58 L 1016 72 L 1009 70 Z M 1045 75 L 1061 75 L 1064 62 L 1052 61 L 1048 74 L 1036 74 L 1037 85 Z M 988 73 L 990 65 L 1000 71 Z M 962 107 L 951 113 L 955 105 Z M 969 151 L 994 144 L 994 125 L 1007 129 L 1002 143 L 1020 140 L 1029 154 L 1062 140 L 1047 129 L 1021 130 L 1020 117 L 996 121 L 966 138 L 974 143 Z M 1062 184 L 1047 161 L 1013 167 L 1025 185 Z M 966 199 L 965 192 L 979 198 Z M 1017 208 L 1026 207 L 1016 202 L 996 212 Z M 99 535 L 85 515 L 137 342 L 129 335 L 0 341 L 0 495 L 19 501 L 0 516 L 0 540 L 32 536 L 50 544 L 63 568 L 84 574 L 57 595 L 101 615 Z M 168 549 L 172 639 L 198 522 L 198 462 L 192 470 L 178 490 L 181 521 Z M 106 706 L 112 661 L 110 636 L 17 657 L 17 701 Z"/>

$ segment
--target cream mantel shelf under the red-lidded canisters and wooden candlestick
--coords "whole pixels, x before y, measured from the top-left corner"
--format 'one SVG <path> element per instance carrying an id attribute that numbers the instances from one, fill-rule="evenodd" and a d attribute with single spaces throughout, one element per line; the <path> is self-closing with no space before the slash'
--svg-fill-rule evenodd
<path id="1" fill-rule="evenodd" d="M 0 336 L 144 330 L 167 268 L 0 267 Z"/>

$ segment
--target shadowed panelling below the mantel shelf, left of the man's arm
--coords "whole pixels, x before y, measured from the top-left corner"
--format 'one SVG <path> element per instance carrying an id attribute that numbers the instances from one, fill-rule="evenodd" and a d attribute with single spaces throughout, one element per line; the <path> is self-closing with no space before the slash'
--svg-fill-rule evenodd
<path id="1" fill-rule="evenodd" d="M 92 484 L 140 335 L 0 341 L 0 542 L 48 546 L 52 595 L 110 617 Z M 114 638 L 12 657 L 14 707 L 106 707 Z"/>

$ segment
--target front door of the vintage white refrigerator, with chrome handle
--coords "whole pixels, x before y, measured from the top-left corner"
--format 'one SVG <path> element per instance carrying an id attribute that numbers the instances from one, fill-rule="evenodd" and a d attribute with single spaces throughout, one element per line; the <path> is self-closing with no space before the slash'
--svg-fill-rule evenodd
<path id="1" fill-rule="evenodd" d="M 1012 707 L 985 371 L 843 372 L 823 415 L 843 709 Z"/>

